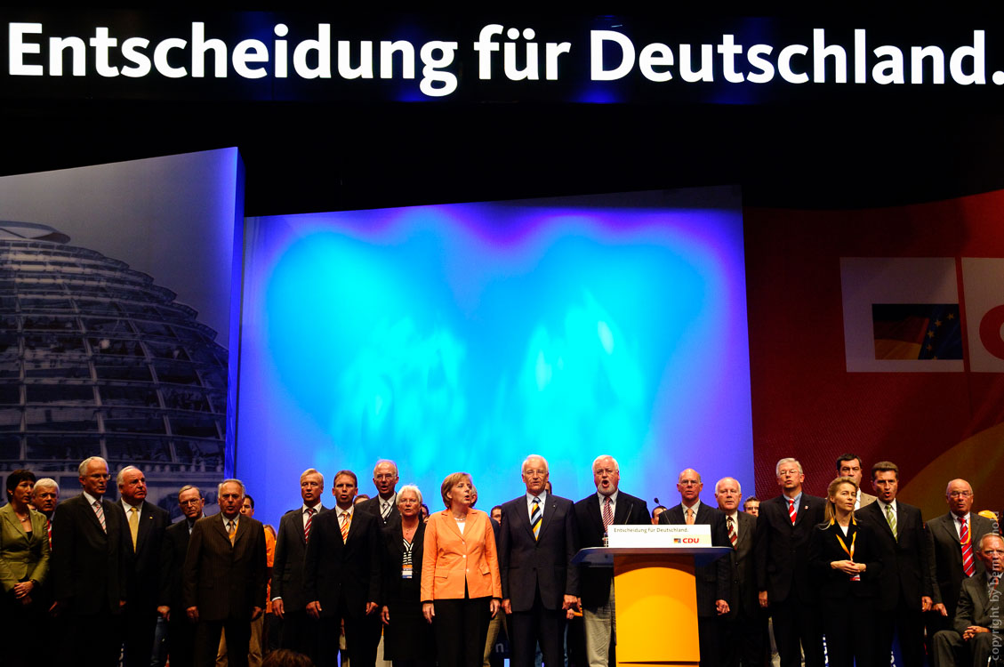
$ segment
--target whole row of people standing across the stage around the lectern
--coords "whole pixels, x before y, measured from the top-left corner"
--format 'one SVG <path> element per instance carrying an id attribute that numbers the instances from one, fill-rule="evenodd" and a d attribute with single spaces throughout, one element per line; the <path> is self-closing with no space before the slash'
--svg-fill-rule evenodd
<path id="1" fill-rule="evenodd" d="M 859 456 L 839 457 L 816 497 L 803 492 L 801 464 L 783 458 L 779 495 L 744 501 L 725 477 L 711 504 L 687 469 L 680 503 L 650 514 L 619 488 L 611 456 L 592 463 L 596 492 L 573 502 L 551 491 L 547 461 L 530 455 L 525 492 L 489 514 L 475 509 L 468 473 L 446 476 L 444 508 L 430 512 L 423 491 L 399 487 L 397 465 L 381 460 L 362 501 L 355 473 L 336 472 L 331 507 L 324 476 L 303 471 L 302 504 L 275 531 L 254 518 L 237 479 L 219 484 L 210 516 L 203 491 L 183 486 L 184 517 L 172 523 L 146 500 L 136 466 L 117 472 L 115 502 L 99 457 L 80 463 L 82 492 L 61 502 L 54 480 L 15 470 L 0 507 L 0 664 L 373 667 L 383 644 L 395 667 L 476 667 L 504 627 L 512 667 L 541 657 L 547 667 L 608 667 L 612 569 L 571 562 L 604 545 L 610 525 L 650 522 L 708 525 L 712 544 L 731 549 L 695 569 L 702 666 L 768 665 L 771 633 L 781 667 L 888 665 L 894 639 L 906 667 L 997 661 L 996 515 L 973 511 L 971 485 L 953 479 L 949 511 L 925 521 L 897 499 L 896 464 L 871 465 L 875 495 L 864 471 Z M 579 616 L 576 651 L 566 625 Z"/>

